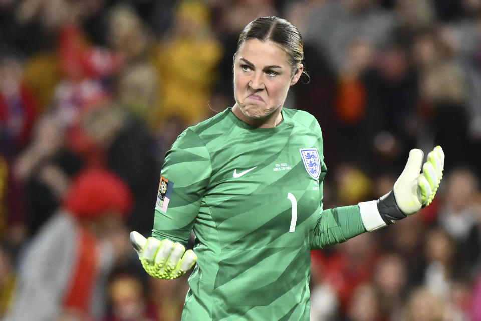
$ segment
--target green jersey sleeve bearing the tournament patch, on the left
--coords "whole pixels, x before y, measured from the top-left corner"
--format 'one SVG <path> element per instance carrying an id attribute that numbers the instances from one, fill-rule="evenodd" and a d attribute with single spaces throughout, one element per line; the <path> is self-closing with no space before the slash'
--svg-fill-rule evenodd
<path id="1" fill-rule="evenodd" d="M 152 236 L 186 244 L 212 172 L 207 147 L 190 129 L 167 152 Z"/>

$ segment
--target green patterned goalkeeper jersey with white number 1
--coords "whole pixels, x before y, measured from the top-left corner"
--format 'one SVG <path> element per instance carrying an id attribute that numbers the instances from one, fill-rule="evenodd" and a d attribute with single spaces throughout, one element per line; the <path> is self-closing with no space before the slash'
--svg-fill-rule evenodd
<path id="1" fill-rule="evenodd" d="M 183 320 L 309 320 L 310 250 L 366 231 L 358 205 L 322 209 L 317 120 L 282 116 L 253 128 L 229 108 L 167 152 L 152 235 L 185 244 L 195 233 Z"/>

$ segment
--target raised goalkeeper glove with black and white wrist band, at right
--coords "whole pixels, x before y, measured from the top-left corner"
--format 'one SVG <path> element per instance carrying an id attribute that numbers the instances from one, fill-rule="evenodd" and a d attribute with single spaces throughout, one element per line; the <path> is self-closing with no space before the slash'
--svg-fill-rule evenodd
<path id="1" fill-rule="evenodd" d="M 444 152 L 440 146 L 436 146 L 422 165 L 423 157 L 420 149 L 412 149 L 393 190 L 377 201 L 359 203 L 361 217 L 368 231 L 393 224 L 431 204 L 442 179 Z"/>

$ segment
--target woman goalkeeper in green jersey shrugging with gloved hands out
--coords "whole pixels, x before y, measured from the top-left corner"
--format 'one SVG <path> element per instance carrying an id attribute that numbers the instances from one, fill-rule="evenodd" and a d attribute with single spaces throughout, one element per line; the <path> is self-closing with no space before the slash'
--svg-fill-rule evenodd
<path id="1" fill-rule="evenodd" d="M 308 320 L 311 249 L 392 224 L 434 197 L 440 147 L 426 162 L 429 175 L 419 175 L 422 152 L 413 150 L 394 192 L 322 209 L 321 129 L 310 114 L 282 108 L 302 60 L 291 23 L 249 23 L 234 55 L 235 105 L 186 129 L 166 155 L 153 237 L 132 232 L 131 241 L 159 278 L 182 275 L 198 257 L 182 319 Z M 196 255 L 180 260 L 192 229 Z"/>

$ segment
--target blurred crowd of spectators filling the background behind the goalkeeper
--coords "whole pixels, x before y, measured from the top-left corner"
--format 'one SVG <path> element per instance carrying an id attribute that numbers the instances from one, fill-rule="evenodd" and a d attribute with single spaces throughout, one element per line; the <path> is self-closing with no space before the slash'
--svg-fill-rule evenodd
<path id="1" fill-rule="evenodd" d="M 446 154 L 429 207 L 312 252 L 311 319 L 481 321 L 481 0 L 0 0 L 0 319 L 180 319 L 188 276 L 147 277 L 128 232 L 271 15 L 304 37 L 285 107 L 321 125 L 325 208 Z"/>

